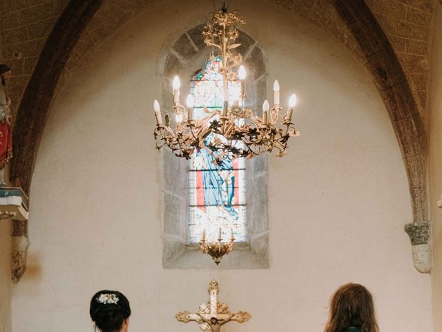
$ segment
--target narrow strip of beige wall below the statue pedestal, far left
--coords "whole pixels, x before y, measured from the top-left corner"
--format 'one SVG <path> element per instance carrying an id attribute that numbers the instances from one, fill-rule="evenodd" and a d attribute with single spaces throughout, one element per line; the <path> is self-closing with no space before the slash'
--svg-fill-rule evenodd
<path id="1" fill-rule="evenodd" d="M 0 220 L 0 332 L 11 331 L 11 221 Z"/>

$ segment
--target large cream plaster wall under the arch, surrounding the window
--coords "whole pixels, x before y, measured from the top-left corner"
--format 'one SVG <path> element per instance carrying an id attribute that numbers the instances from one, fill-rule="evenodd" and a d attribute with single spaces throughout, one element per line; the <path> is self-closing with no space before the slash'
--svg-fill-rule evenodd
<path id="1" fill-rule="evenodd" d="M 271 268 L 162 269 L 151 105 L 166 49 L 211 3 L 161 1 L 104 42 L 52 107 L 31 191 L 39 268 L 14 289 L 14 332 L 90 331 L 88 302 L 102 288 L 131 300 L 131 331 L 198 331 L 174 315 L 197 310 L 211 278 L 233 311 L 253 316 L 227 331 L 322 331 L 329 295 L 346 282 L 372 291 L 382 331 L 432 329 L 430 276 L 414 270 L 403 232 L 412 221 L 405 169 L 369 75 L 294 14 L 230 2 L 265 50 L 267 85 L 278 78 L 282 100 L 299 100 L 302 136 L 269 164 Z"/>

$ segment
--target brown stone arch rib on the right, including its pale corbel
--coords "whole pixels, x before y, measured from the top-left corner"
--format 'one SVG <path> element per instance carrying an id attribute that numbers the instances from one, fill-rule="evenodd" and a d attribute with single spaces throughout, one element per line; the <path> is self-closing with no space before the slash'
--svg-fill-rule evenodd
<path id="1" fill-rule="evenodd" d="M 427 136 L 421 113 L 396 53 L 364 0 L 335 0 L 334 8 L 361 47 L 367 68 L 392 120 L 401 147 L 412 201 L 413 221 L 405 225 L 412 242 L 414 266 L 431 271 L 427 193 Z M 418 259 L 418 256 L 421 256 Z M 418 261 L 419 260 L 419 261 Z"/>

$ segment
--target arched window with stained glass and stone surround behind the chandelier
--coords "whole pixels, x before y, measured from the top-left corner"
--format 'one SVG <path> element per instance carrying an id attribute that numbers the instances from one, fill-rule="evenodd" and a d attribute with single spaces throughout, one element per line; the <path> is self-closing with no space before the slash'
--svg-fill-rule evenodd
<path id="1" fill-rule="evenodd" d="M 195 26 L 177 37 L 175 43 L 165 50 L 164 56 L 160 57 L 162 67 L 159 73 L 166 77 L 162 85 L 163 109 L 169 109 L 173 104 L 171 82 L 175 75 L 192 77 L 189 92 L 197 99 L 193 116 L 202 114 L 201 105 L 208 109 L 220 108 L 222 105 L 222 80 L 216 70 L 216 58 L 211 59 L 212 64 L 206 64 L 196 72 L 193 67 L 193 64 L 202 64 L 210 51 L 201 37 L 203 28 L 204 24 Z M 240 33 L 238 43 L 241 46 L 237 50 L 243 55 L 248 73 L 247 105 L 259 112 L 260 107 L 256 105 L 262 105 L 266 94 L 265 58 L 258 42 L 247 33 Z M 237 83 L 231 84 L 233 88 Z M 267 156 L 236 160 L 231 165 L 217 169 L 205 162 L 208 156 L 197 156 L 193 159 L 194 165 L 165 149 L 162 156 L 164 268 L 268 268 Z M 227 217 L 229 215 L 232 218 Z M 208 219 L 212 219 L 213 228 L 222 225 L 227 236 L 230 235 L 229 228 L 233 226 L 236 238 L 235 248 L 223 257 L 218 267 L 211 257 L 200 252 L 198 246 L 204 227 L 207 227 L 207 235 L 209 232 L 218 235 L 216 230 L 213 232 L 209 229 Z"/>

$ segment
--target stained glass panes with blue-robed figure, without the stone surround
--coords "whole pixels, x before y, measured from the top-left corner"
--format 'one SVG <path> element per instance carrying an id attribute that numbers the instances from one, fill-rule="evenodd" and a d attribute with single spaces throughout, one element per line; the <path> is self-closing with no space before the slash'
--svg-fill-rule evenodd
<path id="1" fill-rule="evenodd" d="M 195 97 L 194 118 L 202 118 L 204 107 L 212 111 L 222 109 L 224 100 L 221 57 L 207 59 L 204 68 L 193 75 L 190 93 Z M 229 81 L 229 103 L 239 82 Z M 214 135 L 206 138 L 208 142 Z M 238 143 L 239 144 L 239 143 Z M 202 230 L 213 241 L 222 229 L 222 238 L 229 239 L 233 232 L 236 242 L 247 241 L 246 172 L 244 158 L 224 160 L 222 165 L 212 163 L 213 157 L 206 149 L 195 152 L 189 165 L 190 240 L 198 243 Z"/>

